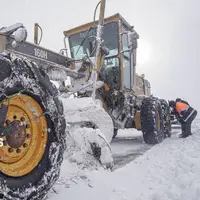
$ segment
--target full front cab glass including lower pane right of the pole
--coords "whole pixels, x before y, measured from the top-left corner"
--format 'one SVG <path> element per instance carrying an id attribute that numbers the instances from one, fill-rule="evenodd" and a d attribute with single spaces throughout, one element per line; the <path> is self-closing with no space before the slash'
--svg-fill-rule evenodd
<path id="1" fill-rule="evenodd" d="M 84 56 L 94 56 L 96 27 L 89 31 L 74 34 L 69 37 L 71 56 L 74 59 L 82 59 Z M 109 49 L 101 68 L 100 79 L 110 88 L 120 88 L 120 64 L 118 59 L 118 24 L 111 22 L 105 24 L 103 30 L 104 45 Z M 84 41 L 84 42 L 83 42 Z"/>

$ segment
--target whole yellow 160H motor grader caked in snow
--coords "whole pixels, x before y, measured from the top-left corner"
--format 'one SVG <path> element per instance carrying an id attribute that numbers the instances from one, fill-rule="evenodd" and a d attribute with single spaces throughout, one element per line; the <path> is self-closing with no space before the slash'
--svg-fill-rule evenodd
<path id="1" fill-rule="evenodd" d="M 96 138 L 106 148 L 119 128 L 142 130 L 149 144 L 170 136 L 166 101 L 151 96 L 149 82 L 135 73 L 139 35 L 119 14 L 104 20 L 105 0 L 98 5 L 98 22 L 64 32 L 71 58 L 66 45 L 59 53 L 39 45 L 38 24 L 34 43 L 26 42 L 21 23 L 0 29 L 0 199 L 44 199 L 77 125 L 100 129 Z M 50 80 L 61 83 L 59 90 Z M 64 111 L 59 97 L 71 94 L 77 98 Z M 96 101 L 86 105 L 90 97 L 102 109 Z M 99 154 L 104 147 L 90 142 L 102 163 L 108 151 Z"/>

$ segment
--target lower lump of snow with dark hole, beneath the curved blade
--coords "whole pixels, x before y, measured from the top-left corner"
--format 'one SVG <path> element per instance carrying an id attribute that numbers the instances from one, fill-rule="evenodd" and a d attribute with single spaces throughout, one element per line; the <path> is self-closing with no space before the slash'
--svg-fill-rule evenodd
<path id="1" fill-rule="evenodd" d="M 98 169 L 101 167 L 112 167 L 113 157 L 111 147 L 100 137 L 99 129 L 76 128 L 70 131 L 71 136 L 67 138 L 66 159 L 69 162 L 76 163 L 81 169 Z M 101 148 L 100 160 L 94 158 L 91 144 L 97 144 Z M 101 164 L 100 164 L 100 162 Z"/>

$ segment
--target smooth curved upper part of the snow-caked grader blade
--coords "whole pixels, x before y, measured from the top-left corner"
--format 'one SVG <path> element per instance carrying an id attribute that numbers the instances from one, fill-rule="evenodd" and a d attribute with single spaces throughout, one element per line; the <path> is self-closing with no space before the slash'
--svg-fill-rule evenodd
<path id="1" fill-rule="evenodd" d="M 66 99 L 61 98 L 65 110 L 65 118 L 69 124 L 92 122 L 105 135 L 108 143 L 113 136 L 113 122 L 102 108 L 100 100 L 93 101 L 90 97 Z"/>

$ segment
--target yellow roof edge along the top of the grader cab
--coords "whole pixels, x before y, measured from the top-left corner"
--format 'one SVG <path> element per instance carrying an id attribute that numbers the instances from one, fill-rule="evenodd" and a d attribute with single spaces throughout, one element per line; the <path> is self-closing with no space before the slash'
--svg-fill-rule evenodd
<path id="1" fill-rule="evenodd" d="M 129 30 L 132 30 L 134 27 L 131 26 L 119 13 L 117 14 L 114 14 L 110 17 L 107 17 L 104 19 L 104 23 L 107 24 L 107 23 L 110 23 L 110 22 L 118 22 L 119 20 L 122 21 L 122 23 L 129 29 Z M 86 31 L 88 30 L 90 27 L 94 26 L 94 23 L 97 24 L 98 23 L 98 20 L 97 21 L 93 21 L 93 22 L 89 22 L 89 23 L 86 23 L 86 24 L 83 24 L 81 26 L 77 26 L 77 27 L 74 27 L 70 30 L 67 30 L 67 31 L 64 31 L 64 35 L 66 37 L 69 37 L 73 34 L 76 34 L 76 33 L 80 33 L 82 31 Z"/>

